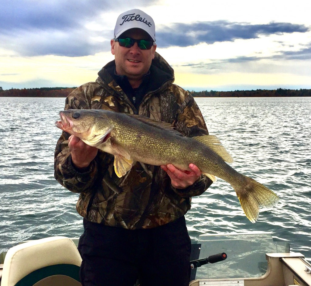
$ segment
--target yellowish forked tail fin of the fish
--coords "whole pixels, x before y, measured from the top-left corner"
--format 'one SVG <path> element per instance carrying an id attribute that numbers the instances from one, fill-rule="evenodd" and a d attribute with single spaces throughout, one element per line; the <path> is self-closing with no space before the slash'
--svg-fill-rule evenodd
<path id="1" fill-rule="evenodd" d="M 244 175 L 242 175 L 244 176 Z M 255 223 L 258 219 L 259 209 L 271 208 L 278 201 L 279 196 L 254 179 L 244 176 L 245 182 L 234 188 L 246 217 Z"/>

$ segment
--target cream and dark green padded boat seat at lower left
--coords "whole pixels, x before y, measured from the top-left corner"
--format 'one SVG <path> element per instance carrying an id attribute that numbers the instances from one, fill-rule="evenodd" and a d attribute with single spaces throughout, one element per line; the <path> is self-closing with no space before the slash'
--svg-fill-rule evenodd
<path id="1" fill-rule="evenodd" d="M 13 246 L 3 263 L 1 286 L 81 286 L 81 256 L 68 237 Z"/>

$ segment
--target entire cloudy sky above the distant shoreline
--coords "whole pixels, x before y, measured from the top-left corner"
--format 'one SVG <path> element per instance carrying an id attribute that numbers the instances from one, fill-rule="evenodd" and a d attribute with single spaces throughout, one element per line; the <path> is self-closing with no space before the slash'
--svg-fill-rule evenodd
<path id="1" fill-rule="evenodd" d="M 187 90 L 311 88 L 310 0 L 1 0 L 0 87 L 77 87 L 114 59 L 114 25 L 138 8 Z"/>

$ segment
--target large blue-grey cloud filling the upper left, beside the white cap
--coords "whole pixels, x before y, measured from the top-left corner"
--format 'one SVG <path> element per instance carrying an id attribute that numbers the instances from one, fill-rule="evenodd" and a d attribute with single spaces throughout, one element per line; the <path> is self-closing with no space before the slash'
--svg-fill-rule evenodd
<path id="1" fill-rule="evenodd" d="M 155 2 L 136 0 L 135 6 Z M 116 7 L 122 10 L 116 11 Z M 115 22 L 107 25 L 105 16 L 132 7 L 131 1 L 121 0 L 2 0 L 1 46 L 20 56 L 74 57 L 108 51 Z M 101 31 L 87 27 L 94 19 L 103 27 Z"/>

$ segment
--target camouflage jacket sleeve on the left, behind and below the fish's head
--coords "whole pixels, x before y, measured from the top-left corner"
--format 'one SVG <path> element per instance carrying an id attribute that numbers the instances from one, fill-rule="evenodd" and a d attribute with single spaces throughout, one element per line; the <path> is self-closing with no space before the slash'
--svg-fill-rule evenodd
<path id="1" fill-rule="evenodd" d="M 94 82 L 86 83 L 66 98 L 65 110 L 67 109 L 90 109 L 92 108 L 92 95 L 96 92 L 97 85 Z M 68 190 L 81 193 L 91 190 L 98 174 L 99 157 L 104 157 L 103 152 L 98 152 L 90 166 L 83 170 L 76 169 L 72 164 L 71 151 L 68 147 L 70 134 L 64 132 L 57 141 L 54 153 L 54 177 Z"/>

